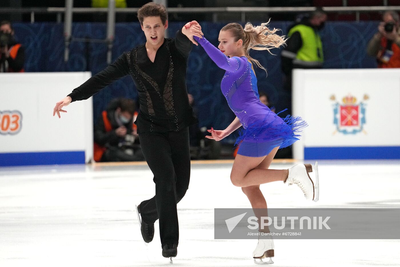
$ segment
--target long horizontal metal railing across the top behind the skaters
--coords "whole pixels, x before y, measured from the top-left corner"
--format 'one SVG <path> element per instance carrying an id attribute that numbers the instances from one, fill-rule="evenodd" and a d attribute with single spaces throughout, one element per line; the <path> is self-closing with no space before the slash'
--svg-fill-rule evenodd
<path id="1" fill-rule="evenodd" d="M 168 13 L 203 13 L 213 14 L 217 20 L 218 13 L 239 13 L 245 22 L 246 13 L 300 13 L 314 11 L 315 7 L 210 7 L 210 8 L 168 8 Z M 360 20 L 360 13 L 400 11 L 400 6 L 338 6 L 323 7 L 326 12 L 355 13 Z M 0 14 L 30 14 L 31 22 L 35 22 L 35 14 L 56 14 L 57 22 L 62 22 L 62 14 L 66 8 L 1 8 Z M 136 13 L 139 8 L 115 8 L 115 13 Z M 72 13 L 107 13 L 108 8 L 72 8 Z"/>

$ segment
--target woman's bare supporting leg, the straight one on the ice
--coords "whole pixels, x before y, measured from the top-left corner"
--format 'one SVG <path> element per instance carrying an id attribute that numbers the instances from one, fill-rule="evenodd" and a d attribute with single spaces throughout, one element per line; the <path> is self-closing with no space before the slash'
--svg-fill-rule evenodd
<path id="1" fill-rule="evenodd" d="M 274 150 L 272 150 L 270 152 L 270 154 L 268 154 L 264 158 L 264 160 L 262 160 L 262 162 L 260 164 L 258 164 L 258 166 L 256 166 L 256 168 L 254 168 L 254 169 L 268 169 L 277 150 L 278 150 L 278 148 L 274 148 Z M 267 202 L 264 198 L 264 195 L 262 194 L 262 192 L 260 190 L 260 185 L 242 187 L 242 191 L 247 196 L 248 200 L 250 201 L 250 204 L 254 211 L 254 215 L 256 215 L 256 217 L 258 218 L 258 222 L 260 222 L 261 217 L 268 216 Z M 260 223 L 260 225 L 261 225 L 261 223 Z M 262 231 L 264 233 L 270 232 L 268 227 L 266 227 L 264 229 L 260 229 L 260 231 Z"/>

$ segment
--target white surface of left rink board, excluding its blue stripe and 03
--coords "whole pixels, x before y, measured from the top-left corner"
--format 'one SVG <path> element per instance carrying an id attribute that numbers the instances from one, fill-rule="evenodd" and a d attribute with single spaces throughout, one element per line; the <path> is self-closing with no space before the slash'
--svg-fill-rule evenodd
<path id="1" fill-rule="evenodd" d="M 92 158 L 92 99 L 70 104 L 61 119 L 52 114 L 57 101 L 90 77 L 90 72 L 0 74 L 0 112 L 22 115 L 18 133 L 0 135 L 0 153 L 80 151 L 86 162 Z"/>

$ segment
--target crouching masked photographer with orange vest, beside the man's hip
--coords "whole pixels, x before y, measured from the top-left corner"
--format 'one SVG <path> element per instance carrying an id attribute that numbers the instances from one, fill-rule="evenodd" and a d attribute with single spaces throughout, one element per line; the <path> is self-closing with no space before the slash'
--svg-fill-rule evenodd
<path id="1" fill-rule="evenodd" d="M 136 125 L 133 125 L 135 104 L 131 99 L 114 99 L 94 126 L 94 160 L 144 160 Z"/>

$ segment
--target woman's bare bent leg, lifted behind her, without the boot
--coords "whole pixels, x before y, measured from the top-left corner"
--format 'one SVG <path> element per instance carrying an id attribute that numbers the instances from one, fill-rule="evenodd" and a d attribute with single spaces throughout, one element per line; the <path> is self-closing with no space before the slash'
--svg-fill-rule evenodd
<path id="1" fill-rule="evenodd" d="M 266 157 L 259 158 L 236 155 L 230 174 L 232 184 L 248 187 L 275 181 L 285 181 L 288 178 L 288 170 L 256 168 L 264 160 L 271 162 L 277 150 L 278 147 L 274 148 Z"/>

